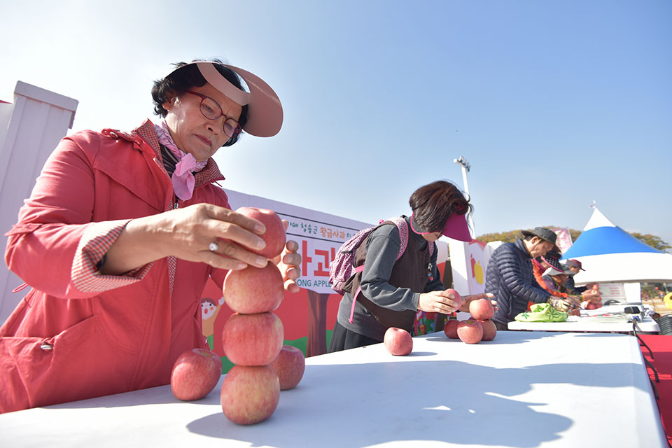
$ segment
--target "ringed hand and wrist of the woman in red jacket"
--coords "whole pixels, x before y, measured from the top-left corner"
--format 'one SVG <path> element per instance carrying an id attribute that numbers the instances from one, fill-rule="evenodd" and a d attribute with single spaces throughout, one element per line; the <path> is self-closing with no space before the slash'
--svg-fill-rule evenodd
<path id="1" fill-rule="evenodd" d="M 220 269 L 264 267 L 268 260 L 248 250 L 265 246 L 259 236 L 264 232 L 260 221 L 213 204 L 144 216 L 127 224 L 108 251 L 102 274 L 128 272 L 168 255 Z"/>

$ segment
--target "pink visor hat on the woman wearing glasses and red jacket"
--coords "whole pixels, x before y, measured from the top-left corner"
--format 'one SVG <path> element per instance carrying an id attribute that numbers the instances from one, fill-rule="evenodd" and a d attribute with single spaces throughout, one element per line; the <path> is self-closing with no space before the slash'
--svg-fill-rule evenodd
<path id="1" fill-rule="evenodd" d="M 185 66 L 196 64 L 205 80 L 239 106 L 247 106 L 247 123 L 243 130 L 256 137 L 273 137 L 282 127 L 282 104 L 274 90 L 261 78 L 238 67 L 221 64 L 235 71 L 247 84 L 249 92 L 240 90 L 216 69 L 218 62 L 197 61 L 178 67 L 172 75 Z"/>

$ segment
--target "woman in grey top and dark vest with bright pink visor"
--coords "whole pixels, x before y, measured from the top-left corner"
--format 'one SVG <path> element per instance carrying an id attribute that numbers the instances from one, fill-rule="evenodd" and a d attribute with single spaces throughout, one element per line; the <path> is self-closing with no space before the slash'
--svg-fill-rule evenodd
<path id="1" fill-rule="evenodd" d="M 459 306 L 436 266 L 435 241 L 442 235 L 471 241 L 466 221 L 471 205 L 460 190 L 450 182 L 435 181 L 415 190 L 409 205 L 412 214 L 402 216 L 405 225 L 381 223 L 356 250 L 355 265 L 363 264 L 364 269 L 341 299 L 330 352 L 378 344 L 390 327 L 411 332 L 418 310 L 468 311 L 472 300 L 493 297 L 465 296 Z M 398 258 L 402 238 L 407 246 Z"/>

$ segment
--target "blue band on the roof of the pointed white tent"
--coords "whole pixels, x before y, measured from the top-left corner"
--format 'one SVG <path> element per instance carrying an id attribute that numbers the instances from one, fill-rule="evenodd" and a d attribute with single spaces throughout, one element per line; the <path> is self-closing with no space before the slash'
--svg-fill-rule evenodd
<path id="1" fill-rule="evenodd" d="M 569 258 L 585 257 L 588 255 L 631 252 L 662 253 L 644 244 L 625 230 L 622 230 L 622 228 L 605 226 L 582 232 L 574 244 L 563 253 L 562 258 L 567 260 Z"/>

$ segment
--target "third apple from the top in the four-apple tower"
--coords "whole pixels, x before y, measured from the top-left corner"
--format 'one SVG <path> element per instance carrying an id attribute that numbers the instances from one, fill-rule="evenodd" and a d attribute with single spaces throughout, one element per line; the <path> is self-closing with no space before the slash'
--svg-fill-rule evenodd
<path id="1" fill-rule="evenodd" d="M 267 365 L 280 353 L 282 321 L 273 313 L 232 314 L 222 329 L 224 354 L 237 365 Z"/>

